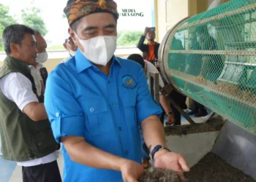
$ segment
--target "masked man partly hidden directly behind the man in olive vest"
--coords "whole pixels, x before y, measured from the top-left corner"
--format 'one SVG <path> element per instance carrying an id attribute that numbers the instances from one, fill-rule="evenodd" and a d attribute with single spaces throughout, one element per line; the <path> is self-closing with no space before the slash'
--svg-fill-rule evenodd
<path id="1" fill-rule="evenodd" d="M 45 63 L 48 60 L 48 53 L 46 52 L 47 43 L 45 39 L 42 37 L 42 34 L 39 31 L 35 31 L 34 37 L 37 41 L 37 59 L 36 63 L 34 63 L 31 67 L 31 75 L 34 78 L 34 84 L 37 87 L 37 95 L 39 98 L 44 95 L 45 92 L 45 84 L 43 82 L 42 76 L 40 74 L 40 68 L 44 66 L 42 63 Z"/>

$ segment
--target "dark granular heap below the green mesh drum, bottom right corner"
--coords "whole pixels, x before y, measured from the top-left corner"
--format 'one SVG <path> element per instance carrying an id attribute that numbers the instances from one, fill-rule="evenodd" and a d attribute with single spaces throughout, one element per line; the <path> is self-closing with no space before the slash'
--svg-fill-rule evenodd
<path id="1" fill-rule="evenodd" d="M 185 177 L 188 182 L 255 182 L 213 153 L 206 154 Z"/>

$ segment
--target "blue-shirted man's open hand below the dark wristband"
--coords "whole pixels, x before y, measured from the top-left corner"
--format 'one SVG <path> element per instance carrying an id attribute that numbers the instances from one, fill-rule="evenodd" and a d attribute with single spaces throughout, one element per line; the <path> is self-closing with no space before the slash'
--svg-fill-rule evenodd
<path id="1" fill-rule="evenodd" d="M 173 170 L 181 174 L 190 170 L 184 157 L 165 149 L 157 151 L 154 155 L 154 166 L 156 168 Z"/>

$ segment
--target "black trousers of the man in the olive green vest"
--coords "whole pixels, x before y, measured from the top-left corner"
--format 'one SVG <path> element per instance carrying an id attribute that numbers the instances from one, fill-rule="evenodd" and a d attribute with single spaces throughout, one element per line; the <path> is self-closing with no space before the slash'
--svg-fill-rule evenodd
<path id="1" fill-rule="evenodd" d="M 57 161 L 45 165 L 22 167 L 23 182 L 61 182 Z"/>

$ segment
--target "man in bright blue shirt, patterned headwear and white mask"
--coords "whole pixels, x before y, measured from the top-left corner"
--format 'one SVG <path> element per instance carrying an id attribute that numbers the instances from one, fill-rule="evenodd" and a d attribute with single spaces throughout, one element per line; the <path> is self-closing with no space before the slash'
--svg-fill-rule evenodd
<path id="1" fill-rule="evenodd" d="M 68 1 L 69 34 L 79 49 L 48 77 L 45 107 L 63 143 L 64 181 L 138 181 L 140 131 L 155 167 L 188 171 L 164 146 L 162 109 L 151 97 L 138 63 L 116 58 L 116 3 Z"/>

